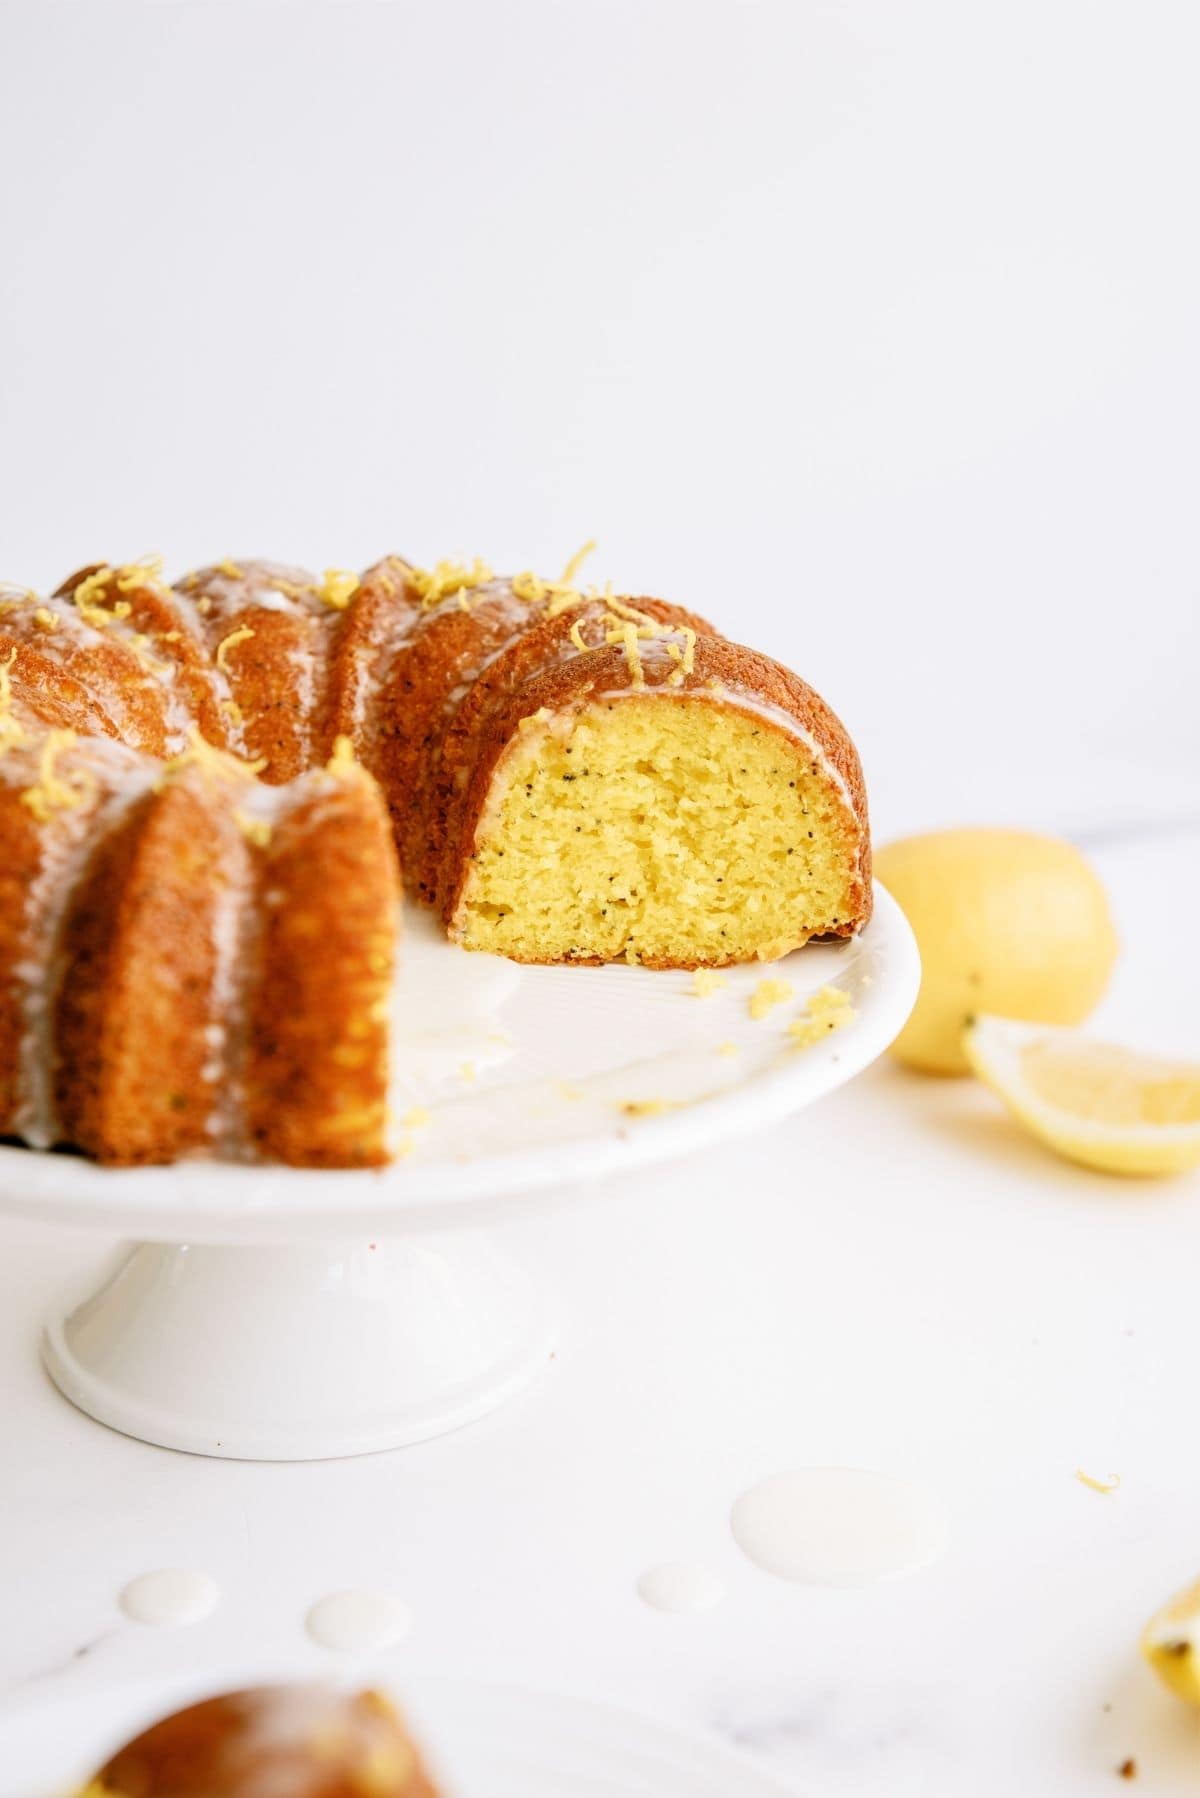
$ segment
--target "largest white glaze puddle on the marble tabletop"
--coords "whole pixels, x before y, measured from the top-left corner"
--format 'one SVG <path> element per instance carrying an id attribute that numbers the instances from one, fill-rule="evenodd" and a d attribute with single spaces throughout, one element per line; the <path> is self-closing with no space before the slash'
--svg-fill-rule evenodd
<path id="1" fill-rule="evenodd" d="M 765 1573 L 808 1586 L 865 1586 L 928 1566 L 945 1548 L 937 1500 L 865 1467 L 799 1467 L 752 1485 L 734 1541 Z"/>

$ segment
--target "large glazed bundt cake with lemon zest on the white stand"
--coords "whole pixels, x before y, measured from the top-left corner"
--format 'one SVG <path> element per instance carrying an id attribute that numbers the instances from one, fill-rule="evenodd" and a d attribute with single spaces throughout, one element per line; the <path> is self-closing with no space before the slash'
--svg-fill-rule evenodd
<path id="1" fill-rule="evenodd" d="M 770 960 L 871 912 L 862 771 L 693 613 L 482 563 L 0 590 L 0 1135 L 389 1158 L 403 883 L 518 962 Z"/>

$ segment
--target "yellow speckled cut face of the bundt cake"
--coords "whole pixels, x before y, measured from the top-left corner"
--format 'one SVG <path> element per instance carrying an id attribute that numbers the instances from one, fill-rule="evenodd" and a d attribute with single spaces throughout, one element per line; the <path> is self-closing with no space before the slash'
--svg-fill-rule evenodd
<path id="1" fill-rule="evenodd" d="M 606 699 L 516 734 L 459 930 L 529 962 L 768 960 L 849 917 L 851 885 L 808 744 L 698 696 Z"/>

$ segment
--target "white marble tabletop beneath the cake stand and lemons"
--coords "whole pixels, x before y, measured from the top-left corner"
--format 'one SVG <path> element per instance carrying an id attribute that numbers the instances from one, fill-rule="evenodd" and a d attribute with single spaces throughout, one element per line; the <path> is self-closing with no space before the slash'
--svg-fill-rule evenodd
<path id="1" fill-rule="evenodd" d="M 1124 937 L 1097 1023 L 1195 1050 L 1200 841 L 1097 861 Z M 565 1311 L 524 1399 L 394 1455 L 255 1465 L 72 1411 L 36 1331 L 97 1246 L 4 1226 L 4 1701 L 329 1667 L 306 1611 L 378 1586 L 412 1609 L 387 1656 L 401 1685 L 610 1697 L 720 1730 L 797 1793 L 1083 1798 L 1130 1755 L 1135 1789 L 1195 1791 L 1200 1728 L 1135 1640 L 1200 1573 L 1200 1179 L 1088 1176 L 977 1086 L 880 1066 L 757 1142 L 565 1196 L 511 1242 Z M 860 1589 L 756 1571 L 732 1500 L 820 1462 L 927 1482 L 946 1555 Z M 725 1600 L 651 1611 L 635 1584 L 662 1561 L 712 1568 Z M 119 1589 L 155 1566 L 205 1570 L 221 1606 L 124 1622 Z"/>

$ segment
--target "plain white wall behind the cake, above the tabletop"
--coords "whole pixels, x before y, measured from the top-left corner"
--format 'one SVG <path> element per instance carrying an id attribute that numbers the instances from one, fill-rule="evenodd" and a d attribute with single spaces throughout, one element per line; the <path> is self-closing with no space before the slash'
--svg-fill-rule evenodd
<path id="1" fill-rule="evenodd" d="M 1187 0 L 0 32 L 7 577 L 596 536 L 831 698 L 885 832 L 1187 802 Z"/>

